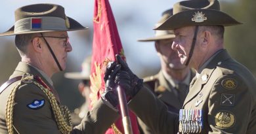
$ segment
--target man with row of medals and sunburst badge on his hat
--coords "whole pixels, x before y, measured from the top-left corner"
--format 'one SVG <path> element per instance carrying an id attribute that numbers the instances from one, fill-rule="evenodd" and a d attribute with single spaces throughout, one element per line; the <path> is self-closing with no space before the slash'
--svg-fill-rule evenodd
<path id="1" fill-rule="evenodd" d="M 156 28 L 174 29 L 172 48 L 182 64 L 197 72 L 179 116 L 140 88 L 138 77 L 117 56 L 121 71 L 115 81 L 132 98 L 130 109 L 154 133 L 255 133 L 255 77 L 229 56 L 223 44 L 224 26 L 238 24 L 220 10 L 219 1 L 193 0 L 176 3 L 173 16 Z"/>

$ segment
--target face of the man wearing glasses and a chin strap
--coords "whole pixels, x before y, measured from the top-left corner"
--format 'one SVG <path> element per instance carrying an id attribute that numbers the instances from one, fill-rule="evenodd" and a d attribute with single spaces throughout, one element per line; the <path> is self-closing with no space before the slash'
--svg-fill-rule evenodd
<path id="1" fill-rule="evenodd" d="M 68 39 L 63 37 L 68 37 L 68 33 L 66 31 L 54 31 L 54 32 L 47 32 L 43 33 L 43 36 L 51 46 L 58 62 L 62 69 L 66 69 L 66 60 L 68 56 L 68 52 L 72 51 L 72 46 Z M 60 37 L 60 38 L 54 38 Z M 46 45 L 46 44 L 45 44 Z M 59 71 L 57 64 L 55 63 L 51 52 L 48 50 L 47 58 L 49 58 L 48 65 L 53 65 L 53 69 L 55 71 Z"/>

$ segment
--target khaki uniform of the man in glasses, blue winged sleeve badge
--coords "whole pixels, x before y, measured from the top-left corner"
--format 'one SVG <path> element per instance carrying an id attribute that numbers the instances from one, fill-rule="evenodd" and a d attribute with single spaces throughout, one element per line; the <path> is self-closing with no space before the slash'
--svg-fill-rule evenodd
<path id="1" fill-rule="evenodd" d="M 41 86 L 48 87 L 47 90 L 53 93 L 51 99 L 56 99 L 57 104 L 61 107 L 58 93 L 54 90 L 53 85 L 47 81 L 39 69 L 32 67 L 26 63 L 20 62 L 10 78 L 30 74 L 41 78 L 41 82 L 31 79 L 18 80 L 0 94 L 0 133 L 7 133 L 6 125 L 6 108 L 7 100 L 16 85 L 20 84 L 16 93 L 14 93 L 13 107 L 13 127 L 14 133 L 61 133 L 58 122 L 56 121 L 56 113 L 53 111 L 52 103 L 47 94 L 42 90 Z M 25 76 L 25 75 L 24 75 Z M 45 85 L 44 85 L 45 84 Z M 102 103 L 100 100 L 98 103 Z M 102 103 L 104 105 L 104 103 Z M 100 105 L 97 105 L 100 106 Z M 96 111 L 95 111 L 96 110 Z M 95 112 L 93 112 L 95 111 Z M 117 119 L 116 113 L 108 106 L 96 107 L 89 112 L 83 119 L 81 124 L 72 128 L 71 133 L 104 133 L 106 129 Z M 110 114 L 108 114 L 110 112 Z M 97 114 L 108 114 L 110 120 L 100 120 Z M 64 118 L 69 123 L 68 118 Z M 100 128 L 100 129 L 98 129 Z M 103 131 L 104 130 L 104 131 Z"/>

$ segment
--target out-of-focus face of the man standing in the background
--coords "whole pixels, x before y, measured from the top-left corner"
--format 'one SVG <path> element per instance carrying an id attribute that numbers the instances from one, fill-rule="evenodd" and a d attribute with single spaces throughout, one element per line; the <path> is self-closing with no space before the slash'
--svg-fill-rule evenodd
<path id="1" fill-rule="evenodd" d="M 171 49 L 172 43 L 173 39 L 156 41 L 156 50 L 158 51 L 158 56 L 160 56 L 161 64 L 164 64 L 169 69 L 184 69 L 185 66 L 182 65 L 177 51 Z"/>

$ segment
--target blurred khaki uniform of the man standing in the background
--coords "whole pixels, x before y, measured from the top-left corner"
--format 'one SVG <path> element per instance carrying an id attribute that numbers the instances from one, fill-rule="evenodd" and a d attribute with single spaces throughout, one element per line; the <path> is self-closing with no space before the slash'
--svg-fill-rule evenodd
<path id="1" fill-rule="evenodd" d="M 184 80 L 184 84 L 186 84 L 186 89 L 182 90 L 188 91 L 189 83 L 193 77 L 194 73 L 190 71 L 190 73 L 188 73 Z M 172 80 L 172 83 L 175 83 L 174 80 Z M 150 89 L 156 95 L 156 97 L 158 97 L 158 99 L 163 101 L 169 111 L 179 114 L 179 109 L 182 108 L 184 99 L 181 99 L 179 97 L 177 87 L 175 87 L 175 85 L 171 84 L 165 78 L 162 70 L 157 75 L 144 78 L 144 86 Z M 140 129 L 142 129 L 142 133 L 153 133 L 152 130 L 142 122 L 142 120 L 138 118 L 138 121 Z"/>

